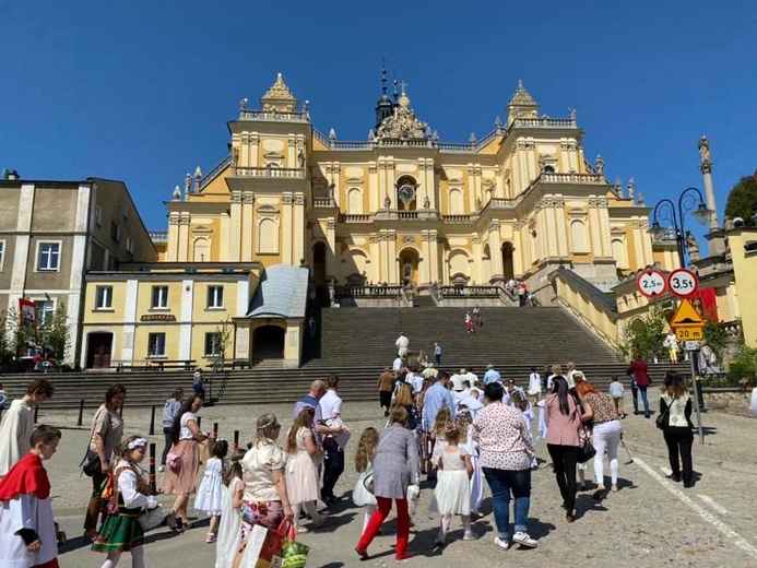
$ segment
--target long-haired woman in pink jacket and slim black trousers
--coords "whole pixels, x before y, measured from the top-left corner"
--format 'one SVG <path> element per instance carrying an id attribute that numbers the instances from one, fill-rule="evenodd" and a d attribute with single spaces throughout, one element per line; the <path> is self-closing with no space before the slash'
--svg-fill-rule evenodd
<path id="1" fill-rule="evenodd" d="M 552 379 L 552 392 L 544 406 L 545 440 L 555 468 L 555 478 L 563 496 L 565 519 L 576 520 L 576 464 L 578 460 L 581 411 L 568 392 L 568 381 L 563 376 Z"/>

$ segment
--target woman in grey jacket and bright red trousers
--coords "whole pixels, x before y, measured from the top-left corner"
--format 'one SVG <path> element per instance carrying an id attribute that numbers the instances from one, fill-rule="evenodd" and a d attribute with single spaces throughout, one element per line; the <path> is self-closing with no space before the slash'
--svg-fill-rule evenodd
<path id="1" fill-rule="evenodd" d="M 407 429 L 407 411 L 403 406 L 394 406 L 389 416 L 391 426 L 383 430 L 374 458 L 374 495 L 378 508 L 355 547 L 355 552 L 363 559 L 368 558 L 368 546 L 391 511 L 392 499 L 397 504 L 395 558 L 404 560 L 413 557 L 413 554 L 407 552 L 407 488 L 418 485 L 418 447 L 415 434 Z"/>

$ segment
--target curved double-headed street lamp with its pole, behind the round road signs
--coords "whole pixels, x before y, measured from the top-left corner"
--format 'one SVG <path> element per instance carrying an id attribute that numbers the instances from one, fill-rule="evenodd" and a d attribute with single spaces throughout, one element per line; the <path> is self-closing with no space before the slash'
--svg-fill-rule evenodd
<path id="1" fill-rule="evenodd" d="M 686 268 L 686 253 L 688 252 L 688 242 L 686 241 L 686 225 L 684 223 L 686 213 L 693 212 L 691 216 L 701 226 L 706 226 L 710 221 L 710 217 L 714 214 L 714 211 L 707 208 L 705 204 L 705 198 L 697 188 L 686 188 L 678 196 L 678 205 L 673 203 L 670 199 L 662 199 L 654 205 L 652 210 L 652 226 L 649 229 L 649 234 L 652 238 L 660 240 L 665 234 L 665 228 L 660 225 L 660 221 L 670 221 L 673 224 L 673 230 L 675 233 L 675 244 L 678 250 L 678 261 L 681 262 L 681 268 Z M 688 357 L 690 359 L 691 366 L 691 380 L 694 381 L 694 393 L 697 399 L 697 422 L 699 423 L 699 437 L 701 436 L 701 413 L 705 412 L 705 399 L 701 392 L 701 386 L 697 381 L 696 374 L 696 363 L 694 357 L 696 351 L 689 351 Z M 703 439 L 702 439 L 703 442 Z"/>

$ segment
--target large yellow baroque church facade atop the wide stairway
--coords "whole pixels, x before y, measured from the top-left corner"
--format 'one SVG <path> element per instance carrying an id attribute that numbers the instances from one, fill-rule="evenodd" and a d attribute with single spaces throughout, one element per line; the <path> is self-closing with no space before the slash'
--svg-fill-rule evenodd
<path id="1" fill-rule="evenodd" d="M 239 105 L 228 155 L 176 188 L 168 262 L 307 263 L 318 286 L 496 284 L 539 291 L 557 267 L 607 288 L 670 251 L 653 250 L 649 209 L 591 165 L 575 111 L 540 114 L 522 83 L 507 120 L 442 142 L 386 73 L 368 139 L 314 128 L 281 73 L 258 109 Z"/>

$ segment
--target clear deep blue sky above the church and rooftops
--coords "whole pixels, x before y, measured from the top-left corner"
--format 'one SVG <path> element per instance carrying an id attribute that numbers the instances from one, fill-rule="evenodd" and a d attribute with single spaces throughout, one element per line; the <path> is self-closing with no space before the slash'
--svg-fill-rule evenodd
<path id="1" fill-rule="evenodd" d="M 576 108 L 587 156 L 648 204 L 702 187 L 707 134 L 722 216 L 757 168 L 756 24 L 742 0 L 0 0 L 0 168 L 121 179 L 166 228 L 162 201 L 225 155 L 240 98 L 281 71 L 316 128 L 364 140 L 386 57 L 443 142 L 489 132 L 519 79 L 542 113 Z"/>

